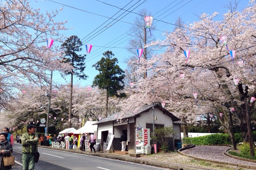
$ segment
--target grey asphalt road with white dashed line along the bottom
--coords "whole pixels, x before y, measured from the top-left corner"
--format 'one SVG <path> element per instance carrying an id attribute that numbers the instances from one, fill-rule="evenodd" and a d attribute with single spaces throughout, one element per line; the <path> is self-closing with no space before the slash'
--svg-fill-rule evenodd
<path id="1" fill-rule="evenodd" d="M 22 145 L 14 143 L 13 155 L 15 156 L 15 165 L 12 169 L 22 170 Z M 64 152 L 59 150 L 51 150 L 46 148 L 38 148 L 40 153 L 39 162 L 35 164 L 35 170 L 80 170 L 80 169 L 104 169 L 104 170 L 148 170 L 162 169 L 156 167 L 145 166 L 123 162 L 120 160 L 106 159 L 96 156 L 83 155 L 72 152 Z"/>

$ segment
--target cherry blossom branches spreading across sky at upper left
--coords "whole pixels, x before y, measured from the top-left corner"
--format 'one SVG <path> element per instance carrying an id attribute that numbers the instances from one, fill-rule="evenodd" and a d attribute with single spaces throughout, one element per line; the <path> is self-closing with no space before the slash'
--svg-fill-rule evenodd
<path id="1" fill-rule="evenodd" d="M 58 46 L 49 50 L 46 39 L 61 40 L 65 22 L 54 22 L 61 11 L 46 12 L 30 7 L 28 0 L 3 1 L 0 10 L 0 88 L 1 98 L 15 98 L 16 90 L 28 82 L 39 87 L 49 83 L 45 70 L 70 69 L 60 63 Z M 1 100 L 1 107 L 6 101 Z"/>

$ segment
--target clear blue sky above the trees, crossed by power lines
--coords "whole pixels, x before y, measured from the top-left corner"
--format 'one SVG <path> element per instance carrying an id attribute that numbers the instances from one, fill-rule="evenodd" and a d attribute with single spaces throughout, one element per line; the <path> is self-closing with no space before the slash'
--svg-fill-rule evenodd
<path id="1" fill-rule="evenodd" d="M 238 0 L 237 10 L 241 11 L 248 3 L 248 0 Z M 89 54 L 86 53 L 85 45 L 82 47 L 82 53 L 87 54 L 85 73 L 89 77 L 87 80 L 74 79 L 74 84 L 82 86 L 91 85 L 95 75 L 98 74 L 95 68 L 91 66 L 99 61 L 103 56 L 102 53 L 107 50 L 115 54 L 119 61 L 118 65 L 125 70 L 124 57 L 133 55 L 125 49 L 128 47 L 128 39 L 132 38 L 127 35 L 127 32 L 132 26 L 131 23 L 134 23 L 134 18 L 138 16 L 136 13 L 141 9 L 146 8 L 154 19 L 164 21 L 156 22 L 156 20 L 153 20 L 156 29 L 160 30 L 154 31 L 154 37 L 163 39 L 165 37 L 162 34 L 165 30 L 173 31 L 174 26 L 172 24 L 175 23 L 178 17 L 181 17 L 184 23 L 187 24 L 197 21 L 197 16 L 201 13 L 211 15 L 218 12 L 219 16 L 215 20 L 221 20 L 223 18 L 222 14 L 228 12 L 228 8 L 225 7 L 228 4 L 228 0 L 37 0 L 37 2 L 31 0 L 31 6 L 40 8 L 42 13 L 45 13 L 46 10 L 48 12 L 55 11 L 63 7 L 63 10 L 54 20 L 67 20 L 66 28 L 73 28 L 64 31 L 63 34 L 66 37 L 76 35 L 83 44 L 93 45 Z M 120 8 L 124 8 L 124 10 L 120 10 Z M 112 17 L 114 14 L 116 15 Z M 118 21 L 109 19 L 111 17 L 117 17 Z M 109 25 L 111 26 L 105 27 Z M 65 80 L 56 71 L 54 72 L 53 81 L 65 83 Z M 66 78 L 66 81 L 67 83 L 70 82 L 69 77 Z"/>

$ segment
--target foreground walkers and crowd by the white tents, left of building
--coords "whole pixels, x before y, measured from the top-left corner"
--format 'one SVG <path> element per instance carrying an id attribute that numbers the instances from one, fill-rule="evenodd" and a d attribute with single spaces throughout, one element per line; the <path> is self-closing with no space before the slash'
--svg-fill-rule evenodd
<path id="1" fill-rule="evenodd" d="M 47 136 L 41 134 L 40 137 L 37 133 L 35 133 L 36 126 L 33 124 L 27 125 L 27 132 L 24 134 L 17 134 L 16 135 L 16 141 L 17 143 L 22 144 L 22 165 L 23 170 L 28 169 L 34 169 L 35 165 L 35 151 L 37 151 L 37 145 L 38 143 L 43 146 L 50 146 L 51 142 L 65 142 L 69 141 L 69 149 L 73 149 L 73 146 L 78 145 L 78 138 L 74 135 L 54 135 L 53 137 L 51 134 L 48 134 Z M 93 133 L 89 133 L 89 139 L 87 134 L 83 133 L 80 138 L 80 146 L 81 150 L 85 150 L 85 146 L 88 145 L 85 141 L 89 140 L 90 143 L 90 152 L 96 152 L 94 145 L 96 144 L 96 138 Z M 3 164 L 3 157 L 10 156 L 13 152 L 12 146 L 13 146 L 14 138 L 11 133 L 9 133 L 9 128 L 3 128 L 3 132 L 0 133 L 0 169 L 12 169 L 11 166 L 4 166 Z"/>

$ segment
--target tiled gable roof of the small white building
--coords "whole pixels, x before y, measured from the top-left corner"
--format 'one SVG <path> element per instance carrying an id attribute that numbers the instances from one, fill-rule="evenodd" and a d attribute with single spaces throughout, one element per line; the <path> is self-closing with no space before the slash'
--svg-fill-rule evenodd
<path id="1" fill-rule="evenodd" d="M 123 115 L 122 117 L 119 117 L 122 113 L 118 112 L 118 113 L 114 113 L 113 115 L 110 115 L 104 119 L 99 120 L 98 122 L 94 123 L 95 124 L 100 124 L 100 123 L 105 123 L 105 122 L 111 122 L 111 121 L 116 121 L 117 119 L 126 119 L 126 118 L 130 118 L 130 117 L 134 117 L 136 115 L 139 115 L 145 111 L 148 111 L 149 109 L 152 109 L 153 104 L 149 104 L 149 105 L 145 105 L 142 106 L 138 109 L 136 109 L 133 113 L 133 116 L 131 116 L 131 113 L 127 113 L 126 115 Z M 174 121 L 180 121 L 179 118 L 177 118 L 176 116 L 174 116 L 172 113 L 168 112 L 166 109 L 162 108 L 161 104 L 155 103 L 154 104 L 155 108 L 161 109 L 163 112 L 165 112 L 166 114 L 168 114 Z M 116 115 L 116 116 L 115 116 Z"/>

